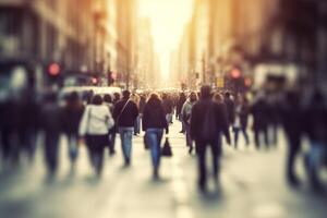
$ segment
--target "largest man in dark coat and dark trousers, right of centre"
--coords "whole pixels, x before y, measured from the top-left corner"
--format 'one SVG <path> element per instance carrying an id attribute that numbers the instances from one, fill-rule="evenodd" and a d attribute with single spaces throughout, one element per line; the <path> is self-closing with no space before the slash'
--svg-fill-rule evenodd
<path id="1" fill-rule="evenodd" d="M 230 144 L 227 114 L 221 106 L 211 100 L 210 86 L 201 88 L 201 99 L 192 108 L 191 137 L 195 141 L 198 157 L 198 187 L 206 191 L 206 149 L 211 148 L 214 177 L 218 183 L 219 173 L 219 135 L 223 133 Z"/>

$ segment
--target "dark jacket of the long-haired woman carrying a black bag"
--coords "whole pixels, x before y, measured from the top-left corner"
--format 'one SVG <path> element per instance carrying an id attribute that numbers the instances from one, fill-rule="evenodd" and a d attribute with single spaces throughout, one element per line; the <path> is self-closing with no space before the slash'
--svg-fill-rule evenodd
<path id="1" fill-rule="evenodd" d="M 159 99 L 149 99 L 144 107 L 143 112 L 143 131 L 147 129 L 166 129 L 168 132 L 168 123 L 164 111 L 162 104 Z"/>

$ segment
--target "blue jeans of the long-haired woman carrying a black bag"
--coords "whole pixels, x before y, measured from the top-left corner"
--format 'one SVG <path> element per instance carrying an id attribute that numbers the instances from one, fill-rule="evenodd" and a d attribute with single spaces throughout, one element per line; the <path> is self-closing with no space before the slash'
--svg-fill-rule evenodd
<path id="1" fill-rule="evenodd" d="M 160 165 L 160 144 L 164 135 L 164 129 L 147 129 L 146 136 L 149 144 L 153 166 L 155 169 Z"/>

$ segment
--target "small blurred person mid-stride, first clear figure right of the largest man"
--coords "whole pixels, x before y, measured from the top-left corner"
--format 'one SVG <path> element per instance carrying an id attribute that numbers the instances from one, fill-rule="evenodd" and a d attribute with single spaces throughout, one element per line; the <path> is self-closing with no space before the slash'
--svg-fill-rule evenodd
<path id="1" fill-rule="evenodd" d="M 233 123 L 235 148 L 238 148 L 240 132 L 242 132 L 244 136 L 246 146 L 249 146 L 250 144 L 249 134 L 247 134 L 249 113 L 250 113 L 250 107 L 249 107 L 247 99 L 243 96 L 238 96 L 235 101 L 235 119 Z"/>

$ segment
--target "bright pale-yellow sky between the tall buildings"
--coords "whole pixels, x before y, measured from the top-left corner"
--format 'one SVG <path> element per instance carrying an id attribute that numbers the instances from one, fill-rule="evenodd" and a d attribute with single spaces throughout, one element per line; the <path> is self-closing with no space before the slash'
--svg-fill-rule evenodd
<path id="1" fill-rule="evenodd" d="M 152 21 L 155 48 L 164 78 L 168 78 L 170 53 L 178 48 L 185 24 L 191 20 L 193 0 L 140 0 L 140 14 Z"/>

